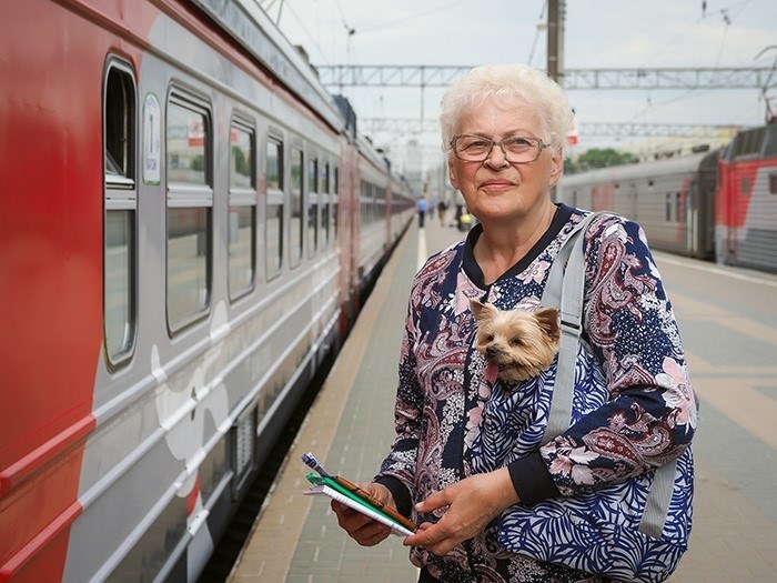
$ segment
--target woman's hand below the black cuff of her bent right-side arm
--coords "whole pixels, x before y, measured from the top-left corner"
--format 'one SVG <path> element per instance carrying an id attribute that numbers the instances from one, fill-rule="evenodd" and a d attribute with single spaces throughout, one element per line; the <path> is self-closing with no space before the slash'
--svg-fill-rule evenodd
<path id="1" fill-rule="evenodd" d="M 424 522 L 413 536 L 405 537 L 404 544 L 423 546 L 442 556 L 483 532 L 502 511 L 518 502 L 506 468 L 471 475 L 415 505 L 415 510 L 426 513 L 448 507 L 440 522 Z"/>

